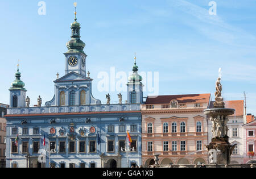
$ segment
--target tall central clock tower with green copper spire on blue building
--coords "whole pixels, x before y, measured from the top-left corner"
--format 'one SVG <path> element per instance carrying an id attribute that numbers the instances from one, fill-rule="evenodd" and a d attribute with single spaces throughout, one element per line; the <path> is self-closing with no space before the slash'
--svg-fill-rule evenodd
<path id="1" fill-rule="evenodd" d="M 76 6 L 75 6 L 76 8 Z M 80 23 L 76 18 L 75 10 L 75 22 L 71 23 L 71 40 L 68 41 L 66 46 L 68 52 L 65 55 L 65 74 L 70 72 L 76 72 L 86 77 L 86 54 L 84 52 L 85 43 L 80 39 Z"/>

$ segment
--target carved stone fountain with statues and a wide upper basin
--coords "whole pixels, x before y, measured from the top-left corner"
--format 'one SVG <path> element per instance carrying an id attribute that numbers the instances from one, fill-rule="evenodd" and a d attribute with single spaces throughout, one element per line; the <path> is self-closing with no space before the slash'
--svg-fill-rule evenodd
<path id="1" fill-rule="evenodd" d="M 213 109 L 204 110 L 205 115 L 208 115 L 212 122 L 212 141 L 206 145 L 209 153 L 210 164 L 229 164 L 230 156 L 236 146 L 230 145 L 228 131 L 226 125 L 228 116 L 234 114 L 234 109 L 226 109 L 223 98 L 221 97 L 222 85 L 219 77 L 216 81 L 215 101 Z"/>

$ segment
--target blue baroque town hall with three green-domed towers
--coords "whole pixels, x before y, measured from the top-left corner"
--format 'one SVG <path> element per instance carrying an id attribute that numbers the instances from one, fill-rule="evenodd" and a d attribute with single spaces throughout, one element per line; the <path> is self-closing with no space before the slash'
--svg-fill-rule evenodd
<path id="1" fill-rule="evenodd" d="M 75 13 L 76 14 L 76 13 Z M 19 68 L 7 109 L 6 167 L 131 167 L 142 165 L 142 78 L 136 61 L 127 82 L 127 102 L 102 105 L 86 76 L 80 24 L 71 24 L 65 76 L 54 81 L 51 101 L 30 107 Z M 132 142 L 127 147 L 127 131 Z M 128 158 L 127 158 L 128 156 Z"/>

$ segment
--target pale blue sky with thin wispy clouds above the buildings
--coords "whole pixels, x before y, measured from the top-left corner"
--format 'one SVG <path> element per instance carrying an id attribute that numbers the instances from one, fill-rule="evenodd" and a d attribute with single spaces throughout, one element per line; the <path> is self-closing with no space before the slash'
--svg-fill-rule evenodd
<path id="1" fill-rule="evenodd" d="M 38 14 L 36 0 L 0 1 L 0 103 L 9 104 L 17 60 L 31 104 L 53 97 L 56 73 L 64 75 L 74 18 L 74 1 L 46 2 Z M 101 71 L 130 72 L 134 52 L 139 71 L 159 72 L 159 95 L 213 93 L 222 68 L 222 96 L 247 96 L 247 113 L 256 114 L 256 1 L 221 0 L 209 15 L 210 0 L 84 1 L 77 0 L 77 21 L 86 43 L 86 69 L 97 90 Z M 110 92 L 118 101 L 119 91 Z M 147 96 L 148 93 L 144 93 Z M 126 98 L 126 94 L 123 94 Z"/>

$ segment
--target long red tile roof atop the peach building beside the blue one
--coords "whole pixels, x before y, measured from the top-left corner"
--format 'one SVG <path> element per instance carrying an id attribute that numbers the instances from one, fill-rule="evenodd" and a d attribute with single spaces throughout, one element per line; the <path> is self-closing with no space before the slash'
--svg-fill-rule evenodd
<path id="1" fill-rule="evenodd" d="M 147 97 L 146 105 L 170 104 L 172 99 L 178 103 L 209 103 L 210 94 L 158 95 Z"/>

